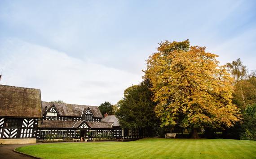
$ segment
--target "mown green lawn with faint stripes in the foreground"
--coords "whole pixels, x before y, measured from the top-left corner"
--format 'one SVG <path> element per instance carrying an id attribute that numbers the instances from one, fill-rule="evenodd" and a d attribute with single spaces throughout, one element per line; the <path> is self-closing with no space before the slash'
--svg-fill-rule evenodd
<path id="1" fill-rule="evenodd" d="M 19 147 L 16 150 L 45 159 L 256 159 L 256 141 L 224 139 L 147 138 L 132 142 L 50 143 Z"/>

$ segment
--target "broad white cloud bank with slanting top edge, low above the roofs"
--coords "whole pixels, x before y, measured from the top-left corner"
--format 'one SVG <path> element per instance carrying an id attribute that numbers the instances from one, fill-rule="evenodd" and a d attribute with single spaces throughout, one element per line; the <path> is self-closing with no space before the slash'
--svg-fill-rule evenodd
<path id="1" fill-rule="evenodd" d="M 99 105 L 122 99 L 141 75 L 81 60 L 64 52 L 17 39 L 0 42 L 0 84 L 40 88 L 42 100 Z"/>

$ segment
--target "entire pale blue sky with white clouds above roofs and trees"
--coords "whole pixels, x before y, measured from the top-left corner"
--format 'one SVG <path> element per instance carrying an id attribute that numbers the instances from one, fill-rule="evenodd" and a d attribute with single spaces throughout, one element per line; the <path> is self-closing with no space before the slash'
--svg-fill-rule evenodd
<path id="1" fill-rule="evenodd" d="M 256 1 L 0 0 L 0 84 L 116 104 L 159 42 L 186 39 L 256 70 Z"/>

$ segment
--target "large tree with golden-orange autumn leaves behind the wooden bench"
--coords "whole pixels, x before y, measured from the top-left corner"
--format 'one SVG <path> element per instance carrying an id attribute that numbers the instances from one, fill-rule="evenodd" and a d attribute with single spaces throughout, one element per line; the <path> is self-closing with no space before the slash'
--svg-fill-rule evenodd
<path id="1" fill-rule="evenodd" d="M 232 78 L 216 54 L 184 42 L 161 42 L 147 60 L 144 79 L 152 84 L 154 108 L 161 126 L 192 128 L 233 126 L 240 120 L 232 103 Z"/>

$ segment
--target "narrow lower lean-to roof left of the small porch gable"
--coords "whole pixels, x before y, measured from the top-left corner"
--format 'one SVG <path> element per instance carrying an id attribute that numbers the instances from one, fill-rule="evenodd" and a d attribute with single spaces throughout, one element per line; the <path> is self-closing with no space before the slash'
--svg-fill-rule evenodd
<path id="1" fill-rule="evenodd" d="M 77 128 L 84 121 L 59 121 L 59 120 L 44 120 L 38 122 L 39 128 Z"/>

